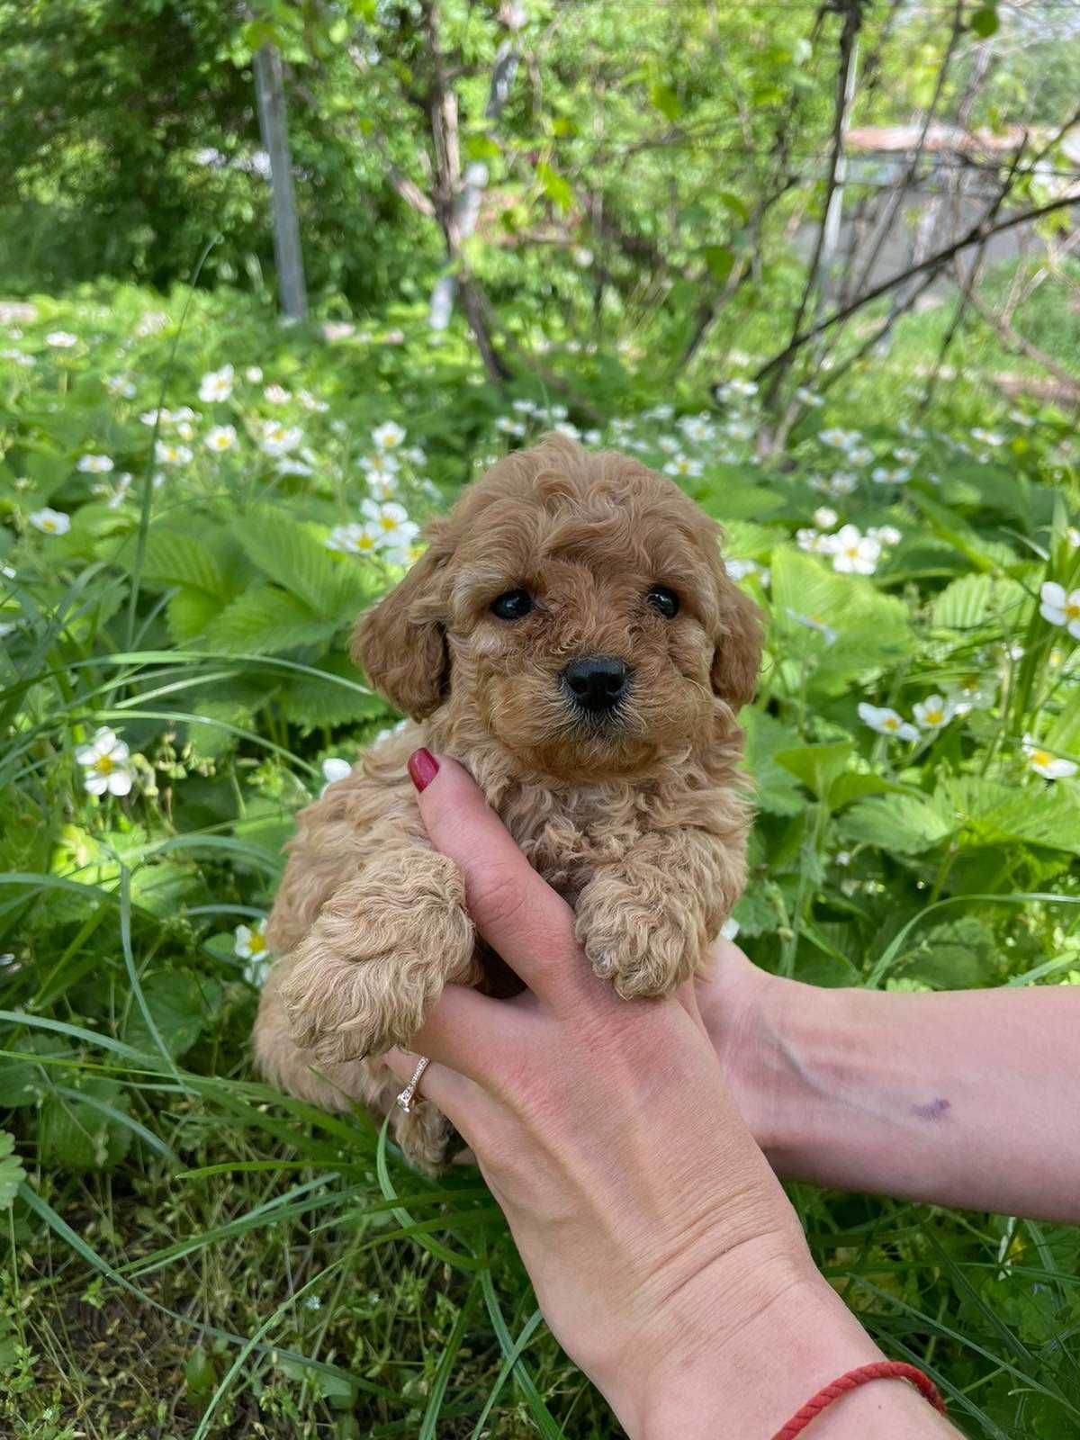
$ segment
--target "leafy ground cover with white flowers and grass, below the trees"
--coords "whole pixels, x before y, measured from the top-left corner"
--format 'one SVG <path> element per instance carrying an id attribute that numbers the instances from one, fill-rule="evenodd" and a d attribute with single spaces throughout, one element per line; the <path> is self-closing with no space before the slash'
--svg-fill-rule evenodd
<path id="1" fill-rule="evenodd" d="M 544 429 L 639 452 L 769 616 L 736 912 L 821 985 L 1080 984 L 1076 441 L 888 361 L 757 454 L 752 359 L 658 395 L 544 348 L 501 395 L 415 314 L 282 328 L 132 287 L 6 308 L 0 1426 L 611 1436 L 469 1172 L 251 1077 L 294 811 L 396 723 L 348 665 L 418 526 Z M 635 369 L 635 366 L 638 369 Z M 1076 1434 L 1080 1236 L 795 1194 L 814 1253 L 978 1437 Z"/>

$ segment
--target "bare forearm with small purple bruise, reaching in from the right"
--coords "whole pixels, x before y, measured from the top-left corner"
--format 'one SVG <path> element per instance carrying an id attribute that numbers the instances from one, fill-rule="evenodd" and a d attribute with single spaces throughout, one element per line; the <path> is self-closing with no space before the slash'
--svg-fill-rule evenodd
<path id="1" fill-rule="evenodd" d="M 752 1123 L 780 1175 L 1080 1221 L 1080 988 L 766 978 L 757 1020 Z"/>

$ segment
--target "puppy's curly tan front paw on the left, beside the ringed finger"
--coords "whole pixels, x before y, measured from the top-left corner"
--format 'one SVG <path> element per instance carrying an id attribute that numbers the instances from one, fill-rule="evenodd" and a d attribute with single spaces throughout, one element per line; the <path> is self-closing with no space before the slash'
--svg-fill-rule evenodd
<path id="1" fill-rule="evenodd" d="M 287 962 L 281 998 L 312 1063 L 408 1045 L 446 981 L 475 982 L 461 877 L 444 855 L 423 854 L 423 883 L 399 863 L 389 887 L 367 877 L 340 891 Z"/>

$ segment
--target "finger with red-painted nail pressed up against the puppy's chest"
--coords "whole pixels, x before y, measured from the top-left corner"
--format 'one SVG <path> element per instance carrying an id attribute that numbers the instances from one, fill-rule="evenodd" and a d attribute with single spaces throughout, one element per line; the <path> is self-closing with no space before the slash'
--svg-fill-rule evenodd
<path id="1" fill-rule="evenodd" d="M 431 766 L 438 769 L 431 773 Z M 484 939 L 546 999 L 583 973 L 573 912 L 517 848 L 475 780 L 455 760 L 418 750 L 409 773 L 432 844 L 461 867 L 469 914 Z"/>

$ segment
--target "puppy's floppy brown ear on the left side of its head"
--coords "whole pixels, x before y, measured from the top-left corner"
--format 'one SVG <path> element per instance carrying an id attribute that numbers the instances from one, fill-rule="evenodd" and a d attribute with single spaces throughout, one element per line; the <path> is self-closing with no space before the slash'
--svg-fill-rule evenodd
<path id="1" fill-rule="evenodd" d="M 438 595 L 451 546 L 436 533 L 400 585 L 357 618 L 350 655 L 376 690 L 413 720 L 449 690 L 449 651 Z"/>

